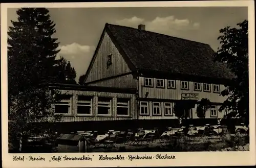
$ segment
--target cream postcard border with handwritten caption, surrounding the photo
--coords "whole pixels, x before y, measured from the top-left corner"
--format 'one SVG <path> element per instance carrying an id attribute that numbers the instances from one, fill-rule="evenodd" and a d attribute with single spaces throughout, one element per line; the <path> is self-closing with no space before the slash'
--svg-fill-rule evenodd
<path id="1" fill-rule="evenodd" d="M 8 154 L 8 117 L 7 117 L 7 8 L 47 7 L 47 8 L 99 8 L 99 7 L 248 7 L 249 19 L 249 110 L 250 110 L 250 151 L 249 152 L 169 152 L 162 155 L 175 155 L 176 159 L 154 160 L 98 160 L 98 155 L 104 153 L 51 153 L 22 154 L 22 156 L 41 156 L 46 161 L 12 161 L 13 154 Z M 109 167 L 109 166 L 199 166 L 199 165 L 255 165 L 255 42 L 254 42 L 254 1 L 198 1 L 198 2 L 113 2 L 113 3 L 31 3 L 31 4 L 1 4 L 1 78 L 2 78 L 2 160 L 3 167 Z M 93 161 L 60 161 L 49 162 L 52 156 L 79 157 L 91 156 Z M 107 153 L 116 156 L 118 153 Z M 160 153 L 120 153 L 127 157 L 131 155 L 155 156 Z M 18 154 L 17 154 L 18 155 Z M 118 154 L 119 155 L 119 154 Z"/>

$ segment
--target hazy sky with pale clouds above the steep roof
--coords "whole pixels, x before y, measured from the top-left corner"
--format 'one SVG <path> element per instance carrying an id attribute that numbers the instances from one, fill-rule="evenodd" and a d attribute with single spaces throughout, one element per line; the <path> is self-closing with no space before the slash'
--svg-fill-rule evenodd
<path id="1" fill-rule="evenodd" d="M 219 30 L 236 27 L 248 19 L 247 7 L 137 7 L 137 8 L 48 8 L 56 24 L 57 57 L 64 57 L 76 70 L 76 81 L 86 73 L 106 22 L 138 28 L 144 24 L 152 32 L 220 46 Z M 17 20 L 15 8 L 9 8 L 8 26 Z"/>

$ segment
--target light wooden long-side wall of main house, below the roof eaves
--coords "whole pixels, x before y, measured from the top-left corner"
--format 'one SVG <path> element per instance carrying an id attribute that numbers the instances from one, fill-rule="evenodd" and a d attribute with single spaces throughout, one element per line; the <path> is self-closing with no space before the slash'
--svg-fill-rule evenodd
<path id="1" fill-rule="evenodd" d="M 152 83 L 151 86 L 146 85 L 145 79 L 151 79 Z M 207 83 L 209 86 L 209 90 L 204 90 L 204 83 L 199 82 L 193 82 L 193 81 L 185 81 L 187 82 L 187 89 L 182 88 L 180 80 L 171 80 L 174 81 L 174 87 L 168 87 L 168 80 L 169 79 L 161 79 L 163 80 L 162 87 L 157 86 L 157 78 L 145 78 L 145 77 L 139 77 L 139 98 L 140 98 L 140 106 L 141 103 L 147 104 L 148 113 L 147 114 L 141 114 L 141 107 L 140 107 L 140 114 L 139 119 L 175 119 L 177 118 L 175 114 L 173 113 L 173 107 L 175 102 L 182 100 L 182 94 L 184 93 L 196 93 L 198 94 L 198 101 L 200 101 L 203 98 L 208 99 L 212 106 L 210 109 L 208 109 L 205 113 L 205 118 L 223 118 L 224 111 L 219 112 L 219 108 L 221 107 L 221 104 L 227 99 L 227 97 L 223 97 L 220 95 L 220 92 L 225 89 L 224 85 L 220 84 L 212 84 Z M 200 87 L 199 89 L 195 89 L 195 84 L 198 84 Z M 215 89 L 215 87 L 218 86 L 218 91 Z M 154 114 L 153 108 L 154 103 L 159 105 L 160 107 L 160 114 Z M 165 113 L 165 108 L 167 108 L 170 105 L 170 114 Z M 189 111 L 189 117 L 190 118 L 199 118 L 196 113 L 198 104 L 195 105 L 194 108 L 191 108 L 191 111 Z M 146 107 L 145 107 L 146 108 Z M 211 110 L 214 110 L 211 112 Z M 215 113 L 216 115 L 211 115 L 212 113 Z"/>

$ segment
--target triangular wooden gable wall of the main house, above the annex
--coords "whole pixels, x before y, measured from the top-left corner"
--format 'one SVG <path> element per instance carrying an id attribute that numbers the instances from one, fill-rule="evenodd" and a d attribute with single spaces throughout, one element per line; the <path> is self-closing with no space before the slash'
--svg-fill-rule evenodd
<path id="1" fill-rule="evenodd" d="M 99 46 L 89 66 L 85 82 L 89 86 L 136 88 L 132 70 L 105 31 L 102 33 Z"/>

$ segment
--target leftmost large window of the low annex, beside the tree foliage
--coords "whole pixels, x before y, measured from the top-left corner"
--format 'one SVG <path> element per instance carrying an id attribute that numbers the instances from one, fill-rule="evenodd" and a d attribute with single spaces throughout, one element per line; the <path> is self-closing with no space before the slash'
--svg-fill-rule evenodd
<path id="1" fill-rule="evenodd" d="M 59 114 L 69 114 L 71 113 L 71 98 L 72 95 L 56 95 L 56 100 L 58 102 L 55 103 L 55 113 Z"/>

